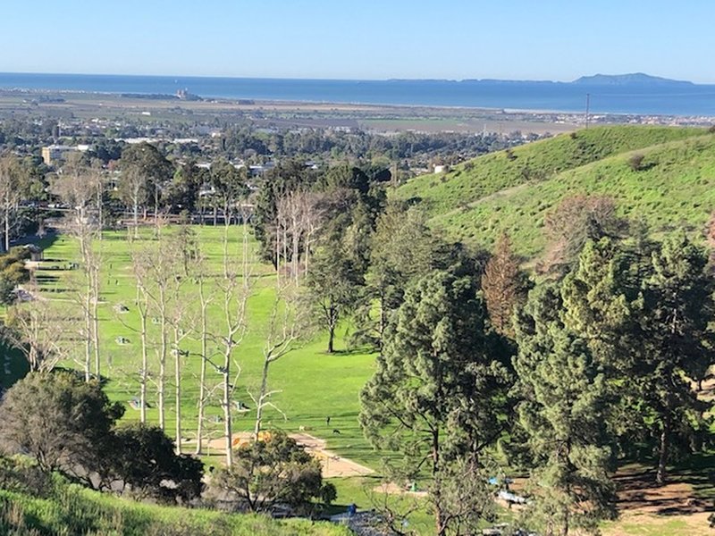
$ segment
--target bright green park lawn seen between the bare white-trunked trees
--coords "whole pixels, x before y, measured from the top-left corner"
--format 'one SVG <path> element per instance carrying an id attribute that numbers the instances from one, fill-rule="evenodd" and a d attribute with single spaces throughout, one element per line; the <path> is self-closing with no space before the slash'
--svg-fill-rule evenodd
<path id="1" fill-rule="evenodd" d="M 208 264 L 218 272 L 221 268 L 223 252 L 223 228 L 195 227 L 197 239 L 202 252 L 208 258 Z M 232 227 L 231 247 L 240 251 L 242 228 Z M 148 246 L 153 243 L 152 231 L 144 230 L 134 247 Z M 100 334 L 102 339 L 102 375 L 108 380 L 106 392 L 110 398 L 122 402 L 126 406 L 125 421 L 139 420 L 139 411 L 131 409 L 129 401 L 139 396 L 140 341 L 139 333 L 134 331 L 139 326 L 139 313 L 136 307 L 135 279 L 131 268 L 130 243 L 126 232 L 105 232 L 101 242 L 102 292 L 105 302 L 100 306 Z M 240 375 L 236 382 L 235 400 L 240 400 L 251 410 L 255 405 L 248 391 L 257 393 L 261 366 L 263 364 L 263 347 L 267 331 L 268 315 L 272 311 L 275 297 L 275 275 L 273 268 L 255 260 L 257 244 L 251 238 L 252 250 L 251 272 L 255 288 L 248 299 L 248 328 L 240 346 L 234 351 L 236 363 L 240 366 Z M 71 270 L 49 270 L 51 265 L 60 268 L 70 262 L 78 262 L 76 242 L 61 236 L 45 251 L 42 270 L 38 271 L 38 280 L 46 297 L 50 297 L 57 306 L 67 307 L 68 314 L 74 311 L 79 315 L 79 308 L 74 304 L 68 285 L 75 273 Z M 238 258 L 238 255 L 237 255 Z M 196 306 L 196 288 L 187 281 L 183 288 L 184 297 L 189 306 Z M 129 311 L 118 313 L 116 306 L 126 306 Z M 215 304 L 209 311 L 210 325 L 219 331 L 222 325 L 220 305 Z M 198 322 L 198 317 L 196 318 Z M 156 326 L 149 322 L 148 329 L 155 332 Z M 265 410 L 264 427 L 282 428 L 286 431 L 298 431 L 303 427 L 307 433 L 328 441 L 329 448 L 334 448 L 342 456 L 355 459 L 365 465 L 376 465 L 373 450 L 368 447 L 357 423 L 359 411 L 358 394 L 366 380 L 373 372 L 374 356 L 360 351 L 349 351 L 346 348 L 347 331 L 341 328 L 338 332 L 337 352 L 328 355 L 325 352 L 327 339 L 323 334 L 309 340 L 289 355 L 274 363 L 269 378 L 269 388 L 278 392 L 272 398 L 273 404 L 284 414 L 267 408 Z M 128 339 L 126 344 L 118 344 L 116 339 Z M 198 373 L 200 358 L 196 355 L 199 344 L 196 340 L 184 339 L 181 348 L 189 351 L 189 356 L 181 359 L 181 415 L 183 420 L 182 436 L 194 439 L 193 432 L 197 425 Z M 77 361 L 68 360 L 65 366 L 80 367 L 82 349 L 78 348 Z M 156 373 L 156 357 L 152 372 Z M 168 392 L 166 397 L 166 431 L 170 436 L 174 433 L 175 404 L 173 402 L 172 378 L 174 360 L 167 358 Z M 209 375 L 212 367 L 208 367 Z M 220 381 L 220 375 L 214 372 L 214 381 Z M 152 393 L 152 389 L 149 389 Z M 150 397 L 151 407 L 147 411 L 148 420 L 158 423 L 158 412 L 155 397 Z M 207 415 L 221 415 L 222 410 L 218 399 L 207 408 Z M 330 426 L 326 417 L 331 416 Z M 254 425 L 255 411 L 234 415 L 234 431 L 251 431 Z M 220 437 L 221 423 L 206 423 L 212 437 Z M 333 433 L 340 431 L 340 434 Z M 186 451 L 192 451 L 193 446 L 187 444 Z"/>

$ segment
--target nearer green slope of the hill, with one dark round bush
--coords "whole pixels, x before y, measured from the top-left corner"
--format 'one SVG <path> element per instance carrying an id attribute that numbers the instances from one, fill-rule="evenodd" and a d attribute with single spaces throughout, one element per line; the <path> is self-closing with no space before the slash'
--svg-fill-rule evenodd
<path id="1" fill-rule="evenodd" d="M 629 153 L 615 155 L 543 182 L 510 188 L 433 223 L 455 239 L 490 244 L 508 231 L 519 253 L 543 251 L 543 218 L 564 197 L 608 195 L 620 214 L 656 231 L 681 226 L 699 233 L 715 208 L 715 136 L 669 142 L 638 151 L 647 169 L 633 171 Z"/>

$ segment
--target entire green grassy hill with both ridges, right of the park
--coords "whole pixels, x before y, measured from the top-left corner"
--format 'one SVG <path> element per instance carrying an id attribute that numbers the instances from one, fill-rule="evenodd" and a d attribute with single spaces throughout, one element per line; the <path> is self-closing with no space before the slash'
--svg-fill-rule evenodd
<path id="1" fill-rule="evenodd" d="M 580 149 L 579 147 L 588 147 Z M 644 155 L 634 171 L 629 158 Z M 525 172 L 525 170 L 528 170 Z M 604 127 L 580 130 L 425 175 L 396 196 L 421 198 L 452 239 L 490 245 L 508 231 L 519 253 L 544 247 L 543 216 L 564 197 L 614 197 L 621 214 L 653 230 L 699 230 L 715 208 L 715 136 L 699 129 Z"/>

